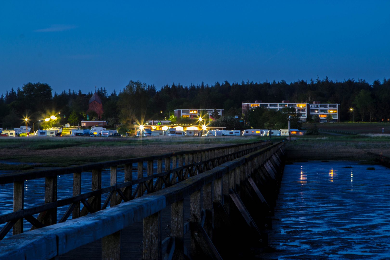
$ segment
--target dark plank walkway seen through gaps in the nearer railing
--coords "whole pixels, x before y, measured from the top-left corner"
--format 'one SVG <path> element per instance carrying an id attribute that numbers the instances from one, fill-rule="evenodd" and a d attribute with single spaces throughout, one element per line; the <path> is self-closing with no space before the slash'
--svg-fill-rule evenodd
<path id="1" fill-rule="evenodd" d="M 162 213 L 162 237 L 166 237 L 164 229 L 171 224 L 171 207 L 170 205 L 161 210 Z M 190 197 L 184 198 L 184 220 L 190 219 Z M 167 231 L 169 231 L 167 229 Z M 191 232 L 184 235 L 184 245 L 187 248 L 191 247 L 190 241 Z M 122 230 L 122 259 L 123 260 L 138 260 L 142 257 L 140 244 L 144 240 L 143 222 L 137 222 L 128 228 Z M 139 241 L 139 242 L 137 242 Z M 142 248 L 141 248 L 142 249 Z M 73 249 L 64 255 L 59 256 L 59 260 L 96 260 L 101 259 L 101 239 L 92 243 L 80 246 Z"/>

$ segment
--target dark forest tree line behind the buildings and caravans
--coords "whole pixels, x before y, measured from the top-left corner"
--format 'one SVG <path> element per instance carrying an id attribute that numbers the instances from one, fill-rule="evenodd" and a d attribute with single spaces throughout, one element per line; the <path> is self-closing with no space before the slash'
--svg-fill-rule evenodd
<path id="1" fill-rule="evenodd" d="M 287 84 L 284 80 L 254 83 L 216 82 L 214 85 L 180 83 L 165 85 L 157 90 L 154 85 L 130 81 L 119 91 L 108 93 L 105 88 L 96 90 L 103 103 L 101 120 L 113 124 L 131 124 L 142 120 L 169 118 L 175 109 L 224 109 L 227 116 L 241 115 L 242 102 L 290 102 L 340 104 L 341 121 L 352 120 L 350 108 L 355 109 L 355 121 L 383 121 L 390 119 L 390 79 L 376 80 L 372 84 L 365 80 L 332 81 L 328 77 L 320 80 L 298 80 Z M 40 120 L 55 113 L 60 122 L 74 124 L 86 119 L 88 101 L 93 92 L 87 94 L 69 89 L 52 93 L 46 83 L 27 83 L 21 88 L 7 90 L 0 96 L 0 127 L 12 128 L 21 125 L 26 116 Z M 162 111 L 162 113 L 161 113 Z M 93 113 L 92 113 L 93 114 Z M 162 115 L 161 115 L 162 114 Z M 66 115 L 63 120 L 63 115 Z M 69 117 L 72 115 L 72 117 Z M 69 120 L 74 120 L 70 122 Z"/>

